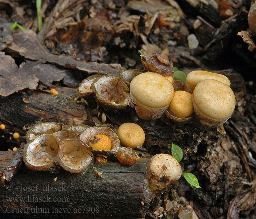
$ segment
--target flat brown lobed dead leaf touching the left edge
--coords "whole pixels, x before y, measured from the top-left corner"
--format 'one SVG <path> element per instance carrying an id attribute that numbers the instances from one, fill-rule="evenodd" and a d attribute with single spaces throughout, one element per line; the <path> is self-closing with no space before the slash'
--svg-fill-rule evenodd
<path id="1" fill-rule="evenodd" d="M 23 62 L 19 68 L 10 55 L 0 52 L 0 95 L 9 96 L 25 88 L 36 89 L 41 81 L 52 86 L 53 81 L 63 80 L 68 87 L 75 88 L 79 77 L 72 77 L 70 70 L 61 69 L 53 64 L 42 64 L 40 61 Z"/>

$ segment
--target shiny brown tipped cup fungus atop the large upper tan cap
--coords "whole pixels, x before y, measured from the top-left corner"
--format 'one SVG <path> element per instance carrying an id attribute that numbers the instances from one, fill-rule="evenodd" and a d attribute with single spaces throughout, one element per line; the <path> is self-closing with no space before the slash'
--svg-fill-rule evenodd
<path id="1" fill-rule="evenodd" d="M 148 72 L 155 72 L 163 76 L 170 76 L 174 73 L 173 63 L 157 53 L 141 55 L 140 59 Z"/>

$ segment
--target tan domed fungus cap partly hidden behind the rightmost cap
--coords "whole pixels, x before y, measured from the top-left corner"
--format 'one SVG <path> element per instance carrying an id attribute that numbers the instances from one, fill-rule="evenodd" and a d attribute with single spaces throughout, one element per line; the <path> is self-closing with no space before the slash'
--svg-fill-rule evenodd
<path id="1" fill-rule="evenodd" d="M 222 83 L 226 84 L 230 87 L 230 81 L 229 78 L 222 74 L 217 74 L 213 72 L 207 72 L 202 70 L 196 70 L 188 73 L 187 75 L 187 87 L 190 92 L 193 92 L 196 85 L 203 80 L 206 79 L 214 79 L 217 81 L 221 81 Z"/>

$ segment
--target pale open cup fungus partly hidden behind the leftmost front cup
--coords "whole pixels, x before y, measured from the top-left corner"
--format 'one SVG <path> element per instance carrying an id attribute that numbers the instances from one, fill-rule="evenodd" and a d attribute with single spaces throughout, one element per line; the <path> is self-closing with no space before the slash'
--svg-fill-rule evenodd
<path id="1" fill-rule="evenodd" d="M 27 131 L 26 139 L 27 142 L 35 139 L 42 134 L 53 134 L 56 131 L 60 131 L 65 125 L 56 122 L 44 122 L 37 123 Z"/>

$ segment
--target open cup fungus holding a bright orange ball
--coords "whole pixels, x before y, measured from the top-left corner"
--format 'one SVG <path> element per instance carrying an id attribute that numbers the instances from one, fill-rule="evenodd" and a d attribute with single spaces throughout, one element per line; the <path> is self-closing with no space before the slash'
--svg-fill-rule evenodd
<path id="1" fill-rule="evenodd" d="M 102 138 L 101 135 L 105 135 L 106 137 Z M 114 154 L 117 147 L 120 145 L 120 140 L 118 139 L 116 133 L 109 127 L 90 127 L 81 132 L 79 138 L 86 143 L 89 149 L 95 155 L 104 155 L 109 156 Z M 108 141 L 110 139 L 110 142 Z M 102 142 L 102 144 L 101 144 Z M 106 148 L 104 143 L 111 143 L 111 146 Z M 93 145 L 97 145 L 97 147 L 93 148 Z M 103 146 L 103 147 L 98 147 Z M 109 149 L 109 150 L 106 150 Z"/>

